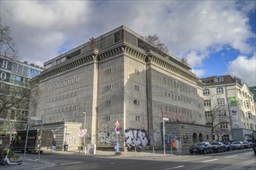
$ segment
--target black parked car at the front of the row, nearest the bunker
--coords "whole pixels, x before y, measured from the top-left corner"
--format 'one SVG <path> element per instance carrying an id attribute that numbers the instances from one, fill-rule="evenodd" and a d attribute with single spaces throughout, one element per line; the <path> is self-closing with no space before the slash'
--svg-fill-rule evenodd
<path id="1" fill-rule="evenodd" d="M 213 147 L 207 141 L 199 142 L 197 145 L 193 145 L 189 148 L 190 154 L 207 154 L 213 153 Z"/>

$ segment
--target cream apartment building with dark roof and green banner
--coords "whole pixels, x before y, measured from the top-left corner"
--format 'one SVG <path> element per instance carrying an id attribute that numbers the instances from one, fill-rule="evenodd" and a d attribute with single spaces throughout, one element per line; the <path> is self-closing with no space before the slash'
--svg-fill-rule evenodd
<path id="1" fill-rule="evenodd" d="M 202 78 L 206 124 L 217 124 L 213 140 L 246 141 L 256 130 L 254 94 L 247 83 L 230 75 Z M 213 121 L 213 119 L 215 121 Z"/>

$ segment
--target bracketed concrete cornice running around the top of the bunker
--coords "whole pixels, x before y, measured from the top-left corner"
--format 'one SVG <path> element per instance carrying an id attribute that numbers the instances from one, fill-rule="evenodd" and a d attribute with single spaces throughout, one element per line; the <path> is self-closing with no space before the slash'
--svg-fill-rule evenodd
<path id="1" fill-rule="evenodd" d="M 144 49 L 140 49 L 139 47 L 130 44 L 130 42 L 125 41 L 116 43 L 115 45 L 106 49 L 92 49 L 88 53 L 73 57 L 64 63 L 44 70 L 39 76 L 34 77 L 31 80 L 31 83 L 33 83 L 33 81 L 35 80 L 45 80 L 51 76 L 55 76 L 59 73 L 63 73 L 64 71 L 74 69 L 74 67 L 81 66 L 85 63 L 94 62 L 95 59 L 102 61 L 110 59 L 112 56 L 118 56 L 122 53 L 126 54 L 126 56 L 136 59 L 140 63 L 147 64 L 147 62 L 150 62 L 150 64 L 153 64 L 154 66 L 157 66 L 160 69 L 167 70 L 170 73 L 175 73 L 177 76 L 183 76 L 186 79 L 197 83 L 198 85 L 202 85 L 201 83 L 198 83 L 199 78 L 196 77 L 194 73 L 185 70 L 185 68 L 183 68 L 182 66 L 178 66 L 178 64 L 173 63 L 169 59 L 165 59 L 163 56 L 159 55 L 158 53 L 155 53 L 152 50 L 150 50 L 149 53 L 146 53 Z"/>

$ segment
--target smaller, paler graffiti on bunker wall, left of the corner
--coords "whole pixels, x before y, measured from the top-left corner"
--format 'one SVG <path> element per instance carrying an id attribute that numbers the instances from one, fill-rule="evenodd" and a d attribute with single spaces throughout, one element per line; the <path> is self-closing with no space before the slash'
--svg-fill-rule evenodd
<path id="1" fill-rule="evenodd" d="M 102 131 L 98 134 L 98 141 L 102 145 L 116 144 L 116 131 Z"/>

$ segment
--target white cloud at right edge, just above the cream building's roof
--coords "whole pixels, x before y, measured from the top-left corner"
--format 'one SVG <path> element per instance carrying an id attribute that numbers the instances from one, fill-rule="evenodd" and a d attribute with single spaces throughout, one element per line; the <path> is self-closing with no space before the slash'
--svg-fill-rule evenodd
<path id="1" fill-rule="evenodd" d="M 249 86 L 256 85 L 256 53 L 251 58 L 238 56 L 229 63 L 227 73 L 244 80 Z"/>

